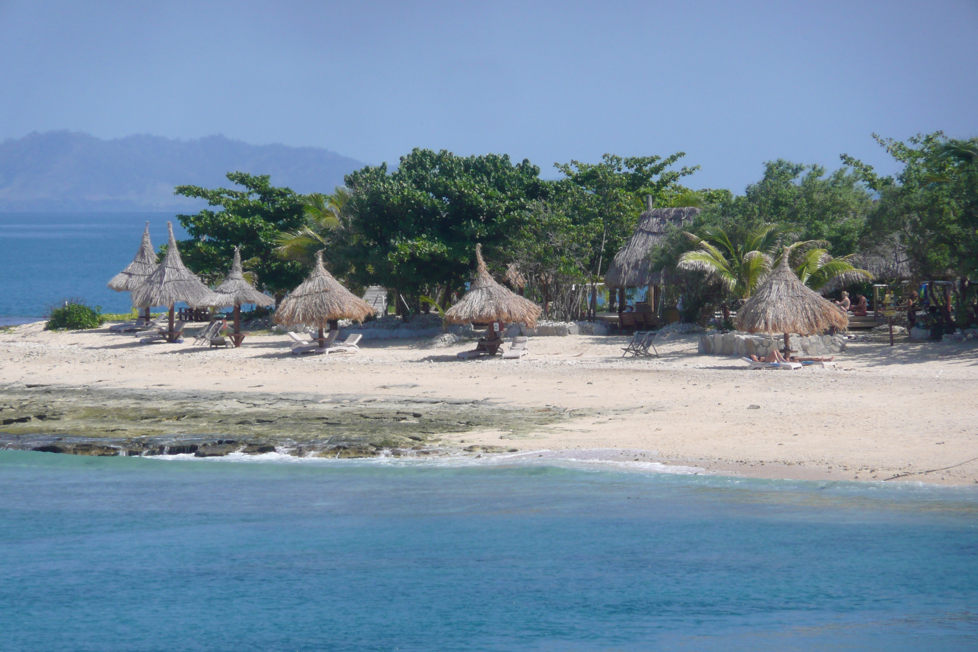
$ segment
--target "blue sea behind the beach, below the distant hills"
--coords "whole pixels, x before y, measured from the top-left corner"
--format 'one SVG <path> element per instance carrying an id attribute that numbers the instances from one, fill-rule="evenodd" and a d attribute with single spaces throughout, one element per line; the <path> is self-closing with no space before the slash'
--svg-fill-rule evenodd
<path id="1" fill-rule="evenodd" d="M 106 283 L 132 262 L 147 220 L 157 250 L 167 220 L 187 238 L 173 213 L 0 213 L 0 326 L 34 321 L 23 318 L 68 298 L 128 312 L 129 293 Z"/>

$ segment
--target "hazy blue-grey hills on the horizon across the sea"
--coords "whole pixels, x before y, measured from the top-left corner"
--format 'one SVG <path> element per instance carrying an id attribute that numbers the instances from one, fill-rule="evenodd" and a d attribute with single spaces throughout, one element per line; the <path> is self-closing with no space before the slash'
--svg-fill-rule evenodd
<path id="1" fill-rule="evenodd" d="M 52 131 L 0 143 L 0 211 L 191 210 L 183 184 L 229 186 L 227 172 L 270 174 L 276 186 L 331 193 L 364 163 L 320 148 L 248 145 L 224 136 L 104 141 Z"/>

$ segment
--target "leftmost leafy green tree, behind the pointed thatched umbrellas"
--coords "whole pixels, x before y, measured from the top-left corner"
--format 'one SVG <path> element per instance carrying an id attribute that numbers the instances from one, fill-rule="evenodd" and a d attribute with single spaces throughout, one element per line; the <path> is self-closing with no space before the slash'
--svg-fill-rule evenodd
<path id="1" fill-rule="evenodd" d="M 283 232 L 305 226 L 305 197 L 272 186 L 269 175 L 229 172 L 227 178 L 244 190 L 177 186 L 174 195 L 205 199 L 208 205 L 220 207 L 177 215 L 191 237 L 180 242 L 180 255 L 193 272 L 217 281 L 230 269 L 235 246 L 241 246 L 244 267 L 278 301 L 302 283 L 306 273 L 301 263 L 275 253 Z"/>

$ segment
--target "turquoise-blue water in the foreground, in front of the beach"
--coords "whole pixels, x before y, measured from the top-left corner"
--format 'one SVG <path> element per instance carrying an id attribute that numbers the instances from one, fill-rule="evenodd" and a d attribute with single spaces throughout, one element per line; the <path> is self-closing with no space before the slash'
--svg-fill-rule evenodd
<path id="1" fill-rule="evenodd" d="M 974 650 L 978 495 L 0 452 L 3 650 Z"/>

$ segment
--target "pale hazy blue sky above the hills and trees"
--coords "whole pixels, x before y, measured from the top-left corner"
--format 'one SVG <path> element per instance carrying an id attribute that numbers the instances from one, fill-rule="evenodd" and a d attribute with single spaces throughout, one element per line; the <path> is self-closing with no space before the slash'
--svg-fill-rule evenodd
<path id="1" fill-rule="evenodd" d="M 369 163 L 685 151 L 892 171 L 870 134 L 978 135 L 978 2 L 2 2 L 0 138 L 224 134 Z M 255 172 L 259 172 L 255 170 Z"/>

